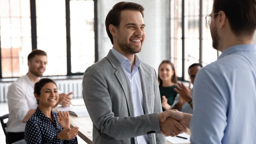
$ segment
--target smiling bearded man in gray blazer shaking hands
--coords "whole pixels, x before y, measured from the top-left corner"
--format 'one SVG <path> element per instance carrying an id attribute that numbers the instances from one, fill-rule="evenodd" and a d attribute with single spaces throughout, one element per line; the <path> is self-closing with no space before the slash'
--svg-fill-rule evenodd
<path id="1" fill-rule="evenodd" d="M 159 122 L 163 113 L 156 71 L 135 54 L 146 36 L 143 11 L 140 4 L 114 5 L 105 23 L 113 48 L 84 73 L 93 144 L 164 144 L 160 129 L 171 136 L 186 131 L 172 118 Z"/>

